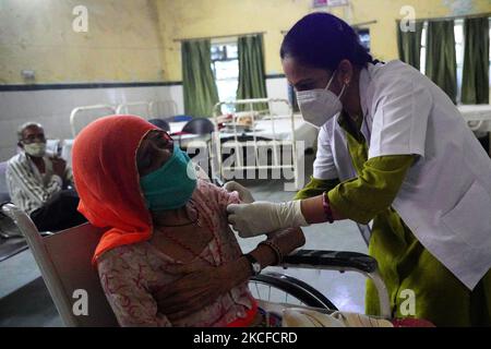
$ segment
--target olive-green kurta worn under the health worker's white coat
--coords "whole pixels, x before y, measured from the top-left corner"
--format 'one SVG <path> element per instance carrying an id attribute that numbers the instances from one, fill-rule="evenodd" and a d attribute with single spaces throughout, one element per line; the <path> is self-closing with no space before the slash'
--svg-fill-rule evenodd
<path id="1" fill-rule="evenodd" d="M 347 117 L 339 118 L 339 124 L 346 130 L 358 178 L 343 183 L 312 178 L 296 198 L 327 191 L 333 208 L 343 216 L 360 224 L 373 219 L 369 254 L 379 262 L 394 317 L 426 318 L 436 326 L 491 326 L 491 272 L 474 291 L 469 291 L 421 245 L 391 207 L 416 158 L 395 155 L 368 159 L 360 125 L 356 127 Z M 370 280 L 367 282 L 366 312 L 379 315 L 379 298 Z"/>

